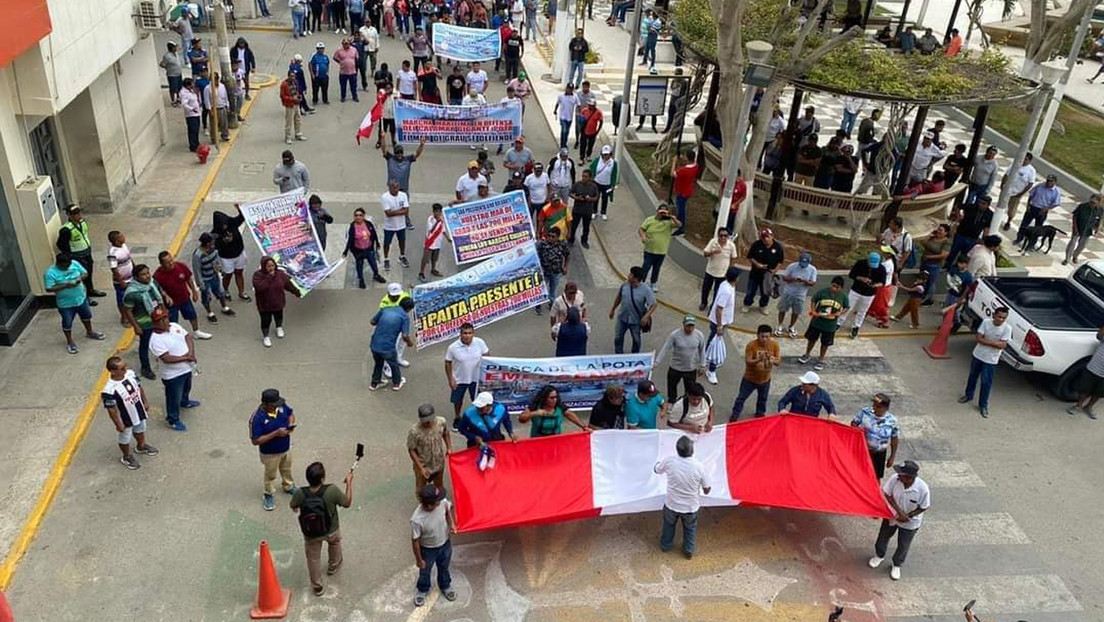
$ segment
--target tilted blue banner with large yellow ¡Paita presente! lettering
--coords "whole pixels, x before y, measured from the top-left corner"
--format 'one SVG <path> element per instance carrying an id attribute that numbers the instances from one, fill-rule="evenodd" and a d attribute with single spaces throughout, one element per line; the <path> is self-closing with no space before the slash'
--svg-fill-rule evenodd
<path id="1" fill-rule="evenodd" d="M 478 328 L 546 302 L 537 246 L 517 246 L 448 278 L 414 287 L 417 347 L 456 338 L 466 321 Z"/>

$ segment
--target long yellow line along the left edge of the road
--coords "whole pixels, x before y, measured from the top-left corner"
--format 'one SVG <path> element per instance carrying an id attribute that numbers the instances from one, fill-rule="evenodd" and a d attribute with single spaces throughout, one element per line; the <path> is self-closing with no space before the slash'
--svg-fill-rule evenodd
<path id="1" fill-rule="evenodd" d="M 256 84 L 258 89 L 276 84 L 275 78 L 272 76 L 264 77 L 266 78 L 264 82 Z M 251 87 L 253 85 L 251 84 Z M 242 107 L 242 116 L 248 116 L 254 102 L 256 102 L 256 97 L 245 103 L 245 106 Z M 200 207 L 203 205 L 203 200 L 206 198 L 208 192 L 211 191 L 211 187 L 214 185 L 214 180 L 219 176 L 219 171 L 222 169 L 223 162 L 226 160 L 231 148 L 237 141 L 237 137 L 240 135 L 241 129 L 234 131 L 231 135 L 230 140 L 224 143 L 225 147 L 219 150 L 219 154 L 214 157 L 214 161 L 211 162 L 211 168 L 208 169 L 206 177 L 203 178 L 203 183 L 200 185 L 199 190 L 192 197 L 192 202 L 188 207 L 188 211 L 184 213 L 184 218 L 180 222 L 180 226 L 177 229 L 177 234 L 172 238 L 172 242 L 169 244 L 168 250 L 173 255 L 179 254 L 180 246 L 183 245 L 184 239 L 188 238 L 188 232 L 195 222 L 195 217 L 199 214 Z M 123 352 L 129 348 L 134 342 L 134 331 L 127 330 L 115 344 L 115 351 Z M 76 422 L 73 424 L 73 429 L 70 430 L 68 439 L 65 440 L 65 445 L 62 447 L 61 453 L 57 455 L 57 460 L 54 461 L 54 465 L 50 470 L 50 475 L 46 477 L 46 481 L 42 486 L 42 492 L 39 493 L 39 498 L 34 503 L 34 508 L 23 523 L 23 527 L 19 531 L 19 537 L 15 538 L 11 550 L 8 551 L 8 556 L 4 558 L 3 565 L 0 566 L 0 590 L 8 589 L 8 586 L 11 584 L 12 577 L 15 574 L 15 568 L 19 566 L 20 560 L 23 559 L 23 556 L 26 555 L 28 549 L 31 548 L 31 542 L 34 541 L 34 537 L 42 527 L 42 521 L 46 517 L 46 512 L 50 510 L 50 505 L 57 495 L 62 481 L 65 478 L 65 473 L 68 471 L 70 464 L 73 462 L 73 456 L 76 455 L 76 451 L 81 447 L 81 442 L 84 440 L 85 434 L 88 432 L 88 426 L 95 418 L 96 410 L 99 404 L 99 392 L 106 383 L 107 371 L 105 370 L 100 372 L 95 386 L 93 386 L 92 391 L 85 399 L 84 408 L 81 410 L 81 414 L 77 415 Z"/>

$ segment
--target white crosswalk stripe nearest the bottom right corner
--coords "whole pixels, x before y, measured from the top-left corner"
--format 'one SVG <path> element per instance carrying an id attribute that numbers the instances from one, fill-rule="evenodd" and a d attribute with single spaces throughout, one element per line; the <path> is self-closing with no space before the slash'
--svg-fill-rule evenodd
<path id="1" fill-rule="evenodd" d="M 881 594 L 879 609 L 885 618 L 958 615 L 963 605 L 977 599 L 975 609 L 987 618 L 1012 613 L 1081 611 L 1081 604 L 1057 574 L 989 577 L 885 578 L 869 587 Z"/>

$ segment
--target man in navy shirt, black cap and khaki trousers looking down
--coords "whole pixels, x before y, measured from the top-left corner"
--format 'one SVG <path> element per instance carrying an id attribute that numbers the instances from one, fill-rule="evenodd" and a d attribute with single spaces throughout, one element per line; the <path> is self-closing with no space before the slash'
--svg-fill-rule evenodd
<path id="1" fill-rule="evenodd" d="M 261 464 L 265 465 L 264 497 L 262 507 L 266 512 L 276 509 L 273 493 L 276 489 L 276 472 L 279 472 L 284 492 L 294 495 L 299 488 L 291 478 L 291 432 L 295 430 L 295 411 L 276 389 L 261 392 L 261 405 L 250 418 L 253 444 L 261 450 Z"/>

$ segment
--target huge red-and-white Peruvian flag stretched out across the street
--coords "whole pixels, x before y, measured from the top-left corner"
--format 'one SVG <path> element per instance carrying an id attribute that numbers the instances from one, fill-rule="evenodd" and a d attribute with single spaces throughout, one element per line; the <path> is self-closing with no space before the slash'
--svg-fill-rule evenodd
<path id="1" fill-rule="evenodd" d="M 676 455 L 678 430 L 606 430 L 493 443 L 449 456 L 458 529 L 478 531 L 661 509 L 667 481 L 652 467 Z M 702 505 L 760 505 L 890 518 L 862 432 L 799 414 L 719 425 L 694 457 L 712 489 Z"/>

